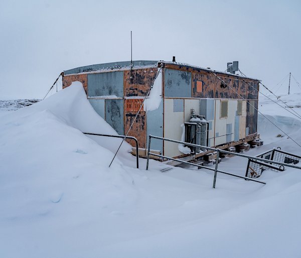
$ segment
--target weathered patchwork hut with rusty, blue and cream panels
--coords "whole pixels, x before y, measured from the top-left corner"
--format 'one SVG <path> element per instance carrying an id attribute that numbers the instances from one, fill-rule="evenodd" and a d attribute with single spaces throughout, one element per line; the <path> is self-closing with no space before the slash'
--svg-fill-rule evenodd
<path id="1" fill-rule="evenodd" d="M 63 88 L 82 82 L 95 111 L 124 135 L 161 67 L 155 82 L 159 102 L 157 96 L 156 105 L 141 108 L 128 134 L 138 139 L 142 154 L 148 135 L 187 141 L 183 124 L 190 122 L 192 109 L 206 119 L 203 145 L 225 149 L 258 137 L 258 79 L 176 62 L 133 61 L 64 71 Z M 152 149 L 169 157 L 186 155 L 176 144 L 161 140 L 152 141 Z"/>

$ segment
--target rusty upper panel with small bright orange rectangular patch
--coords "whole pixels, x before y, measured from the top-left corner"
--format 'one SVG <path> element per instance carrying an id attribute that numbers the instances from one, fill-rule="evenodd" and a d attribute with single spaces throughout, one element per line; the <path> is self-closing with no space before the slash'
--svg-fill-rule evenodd
<path id="1" fill-rule="evenodd" d="M 215 76 L 209 73 L 192 73 L 192 95 L 198 98 L 214 98 Z"/>

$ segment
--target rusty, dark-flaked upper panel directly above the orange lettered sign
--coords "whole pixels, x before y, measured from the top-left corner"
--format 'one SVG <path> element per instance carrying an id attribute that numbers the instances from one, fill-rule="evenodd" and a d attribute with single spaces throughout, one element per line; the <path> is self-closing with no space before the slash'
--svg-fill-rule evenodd
<path id="1" fill-rule="evenodd" d="M 146 96 L 155 80 L 157 68 L 124 71 L 124 96 Z M 132 76 L 132 78 L 130 78 Z"/>

